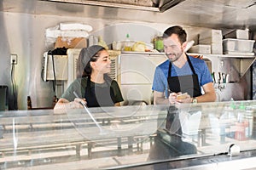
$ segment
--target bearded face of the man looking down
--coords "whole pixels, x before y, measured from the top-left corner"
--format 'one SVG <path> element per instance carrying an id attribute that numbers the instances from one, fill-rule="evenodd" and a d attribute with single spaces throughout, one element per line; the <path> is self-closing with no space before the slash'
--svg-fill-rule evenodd
<path id="1" fill-rule="evenodd" d="M 164 38 L 163 42 L 166 56 L 171 62 L 176 61 L 183 55 L 186 42 L 181 43 L 177 34 L 172 34 L 170 37 Z"/>

